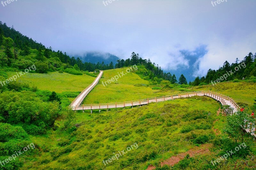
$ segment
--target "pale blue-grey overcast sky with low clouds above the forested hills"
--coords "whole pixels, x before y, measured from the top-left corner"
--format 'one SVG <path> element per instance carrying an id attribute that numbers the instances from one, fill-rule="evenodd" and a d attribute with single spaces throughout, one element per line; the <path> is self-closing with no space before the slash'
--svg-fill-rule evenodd
<path id="1" fill-rule="evenodd" d="M 127 59 L 134 51 L 165 70 L 190 68 L 194 56 L 196 74 L 204 76 L 256 52 L 256 0 L 211 2 L 14 0 L 0 4 L 0 21 L 69 55 L 100 51 Z"/>

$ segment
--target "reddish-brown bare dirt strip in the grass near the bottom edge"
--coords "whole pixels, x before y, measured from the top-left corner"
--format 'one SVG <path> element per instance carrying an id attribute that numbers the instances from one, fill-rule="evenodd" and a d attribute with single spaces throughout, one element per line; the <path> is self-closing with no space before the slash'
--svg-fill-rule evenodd
<path id="1" fill-rule="evenodd" d="M 164 160 L 163 162 L 161 162 L 161 166 L 164 166 L 164 165 L 173 166 L 178 162 L 180 162 L 180 160 L 184 159 L 187 154 L 189 154 L 190 157 L 194 157 L 199 154 L 210 153 L 208 149 L 210 147 L 212 147 L 212 144 L 202 144 L 200 147 L 196 146 L 187 152 L 180 153 L 177 156 L 172 156 L 171 158 Z M 147 170 L 152 170 L 155 168 L 156 168 L 155 166 L 149 165 Z"/>

